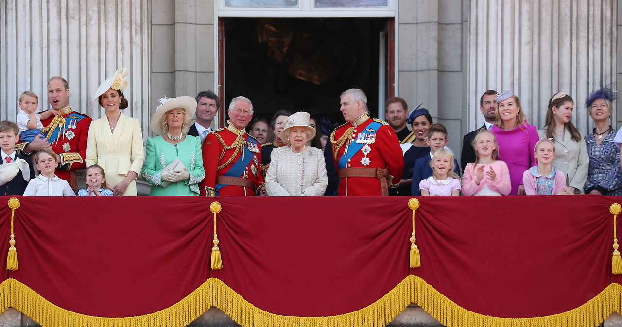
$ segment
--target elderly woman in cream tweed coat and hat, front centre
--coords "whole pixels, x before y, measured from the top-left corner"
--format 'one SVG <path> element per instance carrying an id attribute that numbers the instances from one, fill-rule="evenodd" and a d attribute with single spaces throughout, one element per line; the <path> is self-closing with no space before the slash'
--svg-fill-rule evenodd
<path id="1" fill-rule="evenodd" d="M 315 136 L 309 125 L 308 112 L 296 112 L 285 120 L 281 140 L 289 146 L 275 148 L 266 173 L 266 192 L 269 196 L 321 196 L 328 178 L 322 150 L 305 145 Z"/>

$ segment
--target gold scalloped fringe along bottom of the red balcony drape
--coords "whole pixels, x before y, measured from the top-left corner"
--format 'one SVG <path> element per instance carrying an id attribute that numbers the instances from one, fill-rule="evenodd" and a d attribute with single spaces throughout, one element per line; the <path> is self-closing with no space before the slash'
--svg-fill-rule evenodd
<path id="1" fill-rule="evenodd" d="M 610 284 L 596 297 L 564 313 L 534 318 L 498 318 L 466 310 L 419 276 L 408 275 L 384 297 L 360 310 L 337 316 L 299 317 L 275 315 L 261 310 L 244 300 L 221 280 L 210 278 L 180 302 L 163 310 L 143 316 L 104 318 L 81 315 L 60 308 L 15 279 L 7 279 L 0 284 L 0 313 L 13 307 L 44 327 L 182 327 L 197 319 L 210 307 L 223 310 L 234 321 L 246 327 L 384 326 L 412 302 L 418 303 L 432 317 L 448 327 L 583 327 L 596 326 L 613 312 L 622 313 L 622 286 Z"/>

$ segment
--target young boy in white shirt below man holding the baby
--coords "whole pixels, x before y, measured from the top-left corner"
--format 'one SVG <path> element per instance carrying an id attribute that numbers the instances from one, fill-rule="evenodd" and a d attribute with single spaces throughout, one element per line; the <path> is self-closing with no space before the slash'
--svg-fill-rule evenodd
<path id="1" fill-rule="evenodd" d="M 45 148 L 35 155 L 37 169 L 41 172 L 28 183 L 24 195 L 39 197 L 75 197 L 72 187 L 54 174 L 58 161 L 51 148 Z"/>

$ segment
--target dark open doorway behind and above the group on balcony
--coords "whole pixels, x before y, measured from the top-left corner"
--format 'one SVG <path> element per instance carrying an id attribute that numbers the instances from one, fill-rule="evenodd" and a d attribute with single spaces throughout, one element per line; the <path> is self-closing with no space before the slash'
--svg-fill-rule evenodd
<path id="1" fill-rule="evenodd" d="M 363 89 L 377 116 L 379 100 L 391 92 L 393 60 L 386 57 L 393 55 L 392 43 L 382 37 L 388 18 L 223 18 L 220 23 L 223 103 L 246 96 L 255 119 L 269 120 L 276 110 L 287 109 L 324 112 L 341 123 L 339 95 L 353 87 Z"/>

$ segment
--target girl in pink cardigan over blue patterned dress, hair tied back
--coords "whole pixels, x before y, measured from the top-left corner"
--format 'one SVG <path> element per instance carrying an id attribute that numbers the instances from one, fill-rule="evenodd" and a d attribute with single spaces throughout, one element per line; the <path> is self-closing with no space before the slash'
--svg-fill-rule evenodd
<path id="1" fill-rule="evenodd" d="M 547 138 L 536 143 L 534 156 L 537 166 L 527 169 L 522 174 L 522 184 L 527 195 L 566 195 L 566 174 L 552 167 L 555 159 L 555 145 Z"/>

